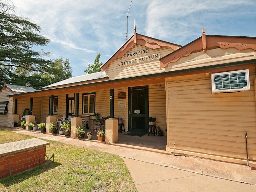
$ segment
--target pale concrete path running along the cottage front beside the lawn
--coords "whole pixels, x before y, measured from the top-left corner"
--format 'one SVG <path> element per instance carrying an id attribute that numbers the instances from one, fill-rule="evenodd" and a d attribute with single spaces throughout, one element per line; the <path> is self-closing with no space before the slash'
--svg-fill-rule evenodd
<path id="1" fill-rule="evenodd" d="M 131 172 L 136 188 L 144 191 L 256 191 L 256 171 L 244 165 L 201 158 L 172 156 L 98 142 L 0 127 L 37 138 L 119 155 Z"/>

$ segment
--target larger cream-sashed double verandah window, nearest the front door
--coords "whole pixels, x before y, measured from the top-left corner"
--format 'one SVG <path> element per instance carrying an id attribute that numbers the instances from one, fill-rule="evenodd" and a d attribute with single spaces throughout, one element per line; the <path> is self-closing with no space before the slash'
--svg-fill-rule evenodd
<path id="1" fill-rule="evenodd" d="M 82 94 L 82 114 L 93 114 L 95 111 L 95 93 Z"/>

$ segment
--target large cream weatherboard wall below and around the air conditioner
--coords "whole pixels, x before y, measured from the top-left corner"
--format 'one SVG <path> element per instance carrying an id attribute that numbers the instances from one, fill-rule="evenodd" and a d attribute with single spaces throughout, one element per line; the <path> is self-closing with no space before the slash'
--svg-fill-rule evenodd
<path id="1" fill-rule="evenodd" d="M 256 160 L 255 69 L 251 90 L 212 94 L 211 75 L 166 79 L 167 150 L 211 159 L 245 163 Z"/>

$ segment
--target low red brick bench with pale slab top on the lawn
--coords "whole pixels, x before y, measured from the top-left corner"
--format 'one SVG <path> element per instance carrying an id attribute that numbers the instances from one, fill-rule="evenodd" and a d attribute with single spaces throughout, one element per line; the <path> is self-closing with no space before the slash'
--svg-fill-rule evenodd
<path id="1" fill-rule="evenodd" d="M 46 145 L 38 138 L 0 144 L 0 179 L 39 166 L 39 158 L 44 164 Z"/>

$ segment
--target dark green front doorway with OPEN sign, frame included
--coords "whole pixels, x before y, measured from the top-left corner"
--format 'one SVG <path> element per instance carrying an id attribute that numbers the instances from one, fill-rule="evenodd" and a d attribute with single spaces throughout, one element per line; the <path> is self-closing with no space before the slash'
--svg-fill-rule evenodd
<path id="1" fill-rule="evenodd" d="M 146 132 L 148 127 L 148 86 L 128 88 L 128 131 Z"/>

